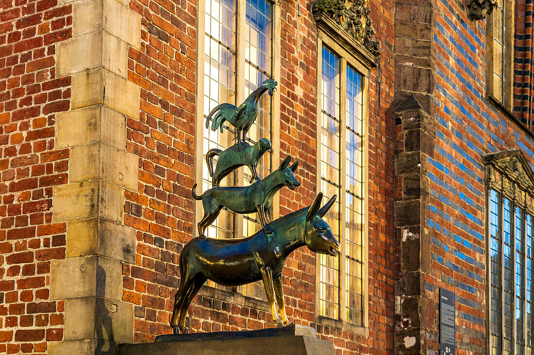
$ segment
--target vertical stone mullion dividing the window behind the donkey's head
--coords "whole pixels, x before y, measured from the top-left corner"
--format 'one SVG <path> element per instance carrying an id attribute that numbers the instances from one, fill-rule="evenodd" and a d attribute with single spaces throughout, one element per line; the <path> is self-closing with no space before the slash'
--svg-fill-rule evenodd
<path id="1" fill-rule="evenodd" d="M 341 259 L 340 259 L 340 319 L 347 320 L 347 233 L 345 233 L 346 224 L 346 199 L 345 196 L 345 174 L 347 168 L 345 166 L 345 157 L 347 147 L 347 134 L 345 134 L 345 125 L 347 124 L 347 60 L 341 58 L 340 60 L 340 106 L 339 106 L 339 129 L 340 129 L 340 207 L 339 207 L 339 219 L 340 219 L 340 243 L 341 243 Z"/>

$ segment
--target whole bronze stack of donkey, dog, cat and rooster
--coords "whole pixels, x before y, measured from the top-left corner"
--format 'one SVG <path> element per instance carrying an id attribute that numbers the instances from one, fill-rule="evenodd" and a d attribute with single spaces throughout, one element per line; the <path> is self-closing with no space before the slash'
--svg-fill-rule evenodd
<path id="1" fill-rule="evenodd" d="M 277 83 L 268 79 L 263 84 L 239 108 L 220 104 L 210 112 L 206 120 L 208 127 L 209 120 L 213 118 L 211 128 L 216 130 L 220 127 L 221 132 L 222 124 L 228 120 L 237 128 L 235 133 L 238 142 L 224 151 L 211 149 L 207 152 L 206 164 L 214 187 L 201 196 L 195 193 L 196 183 L 191 190 L 194 199 L 202 200 L 204 216 L 198 223 L 199 237 L 190 240 L 180 253 L 180 286 L 175 295 L 170 320 L 174 334 L 187 333 L 187 308 L 208 279 L 224 286 L 240 286 L 263 280 L 273 320 L 279 327 L 287 325 L 289 320 L 284 308 L 281 279 L 286 258 L 296 248 L 304 245 L 316 253 L 332 256 L 340 253 L 340 245 L 331 228 L 321 219 L 334 204 L 335 195 L 321 208 L 323 193 L 319 192 L 311 206 L 271 222 L 269 211 L 276 192 L 284 186 L 292 190 L 300 186 L 294 174 L 299 163 L 289 166 L 288 156 L 277 170 L 264 179 L 260 180 L 256 172 L 260 158 L 271 148 L 271 143 L 267 139 L 261 139 L 250 146 L 245 141 L 245 135 L 256 119 L 258 99 L 266 90 L 272 95 Z M 214 172 L 213 159 L 216 155 L 218 160 Z M 258 181 L 247 187 L 218 186 L 224 176 L 243 165 L 250 168 L 252 178 Z M 206 228 L 215 221 L 223 206 L 237 213 L 257 212 L 262 229 L 246 238 L 207 238 Z M 274 305 L 275 297 L 281 319 Z"/>

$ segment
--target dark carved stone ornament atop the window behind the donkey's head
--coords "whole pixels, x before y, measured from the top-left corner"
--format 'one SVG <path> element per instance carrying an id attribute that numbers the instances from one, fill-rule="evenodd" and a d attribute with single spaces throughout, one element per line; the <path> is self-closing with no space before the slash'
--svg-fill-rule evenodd
<path id="1" fill-rule="evenodd" d="M 374 38 L 373 20 L 369 18 L 371 9 L 366 0 L 315 0 L 311 12 L 332 18 L 374 57 L 380 56 L 380 43 Z"/>

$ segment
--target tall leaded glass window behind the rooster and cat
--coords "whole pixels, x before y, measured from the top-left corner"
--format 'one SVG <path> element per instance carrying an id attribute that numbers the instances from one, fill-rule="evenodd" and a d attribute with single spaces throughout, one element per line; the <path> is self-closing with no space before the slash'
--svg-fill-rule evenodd
<path id="1" fill-rule="evenodd" d="M 212 131 L 206 128 L 206 119 L 218 104 L 227 102 L 238 106 L 256 87 L 261 86 L 265 79 L 273 78 L 274 5 L 265 0 L 244 0 L 243 2 L 204 0 L 202 3 L 205 8 L 201 89 L 203 94 L 199 92 L 198 108 L 202 108 L 203 115 L 198 117 L 201 122 L 197 125 L 199 127 L 197 134 L 202 137 L 202 158 L 197 158 L 197 168 L 200 170 L 197 176 L 200 174 L 202 191 L 206 191 L 212 187 L 206 166 L 206 153 L 213 148 L 224 150 L 235 143 L 235 130 L 232 125 L 226 124 L 223 133 L 219 130 Z M 242 35 L 239 37 L 237 33 Z M 251 145 L 261 138 L 273 142 L 272 100 L 268 94 L 263 95 L 260 100 L 256 122 L 247 133 L 247 141 Z M 200 148 L 198 143 L 197 147 Z M 265 178 L 270 174 L 271 160 L 271 152 L 268 151 L 263 155 L 257 167 L 260 178 Z M 215 157 L 214 166 L 216 162 Z M 227 175 L 221 181 L 221 186 L 248 185 L 251 177 L 248 168 L 239 168 Z M 197 189 L 197 193 L 200 193 L 200 187 Z M 198 214 L 200 214 L 199 209 L 197 209 L 195 223 L 198 223 L 202 217 L 202 214 Z M 260 222 L 255 214 L 244 216 L 223 208 L 217 220 L 207 228 L 206 235 L 210 238 L 240 238 L 252 235 L 260 228 Z M 208 284 L 215 286 L 211 281 L 208 281 Z M 261 283 L 228 289 L 265 299 L 265 291 Z"/>

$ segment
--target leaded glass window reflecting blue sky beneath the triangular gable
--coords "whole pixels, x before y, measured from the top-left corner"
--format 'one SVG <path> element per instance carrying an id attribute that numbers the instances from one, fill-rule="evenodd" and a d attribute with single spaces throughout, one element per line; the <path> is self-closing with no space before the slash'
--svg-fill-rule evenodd
<path id="1" fill-rule="evenodd" d="M 534 209 L 494 189 L 488 202 L 491 354 L 532 354 Z"/>

